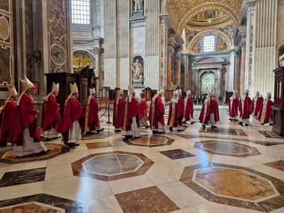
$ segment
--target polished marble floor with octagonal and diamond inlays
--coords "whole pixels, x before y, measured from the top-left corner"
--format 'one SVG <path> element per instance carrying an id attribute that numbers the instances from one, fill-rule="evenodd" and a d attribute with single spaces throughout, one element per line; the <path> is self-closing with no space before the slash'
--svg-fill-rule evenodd
<path id="1" fill-rule="evenodd" d="M 141 129 L 141 138 L 125 140 L 102 116 L 104 132 L 77 148 L 52 141 L 47 156 L 33 158 L 1 148 L 0 213 L 283 213 L 284 138 L 220 111 L 218 129 Z"/>

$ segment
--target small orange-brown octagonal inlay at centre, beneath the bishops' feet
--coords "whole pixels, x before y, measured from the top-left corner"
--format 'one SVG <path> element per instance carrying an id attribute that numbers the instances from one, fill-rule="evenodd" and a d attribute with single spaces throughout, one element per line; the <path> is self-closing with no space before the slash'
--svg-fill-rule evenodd
<path id="1" fill-rule="evenodd" d="M 165 146 L 170 145 L 173 143 L 172 138 L 168 138 L 165 136 L 151 136 L 151 135 L 143 135 L 141 138 L 130 138 L 130 139 L 124 139 L 124 142 L 126 142 L 129 145 L 134 146 L 148 146 L 148 147 L 154 147 L 154 146 Z"/>

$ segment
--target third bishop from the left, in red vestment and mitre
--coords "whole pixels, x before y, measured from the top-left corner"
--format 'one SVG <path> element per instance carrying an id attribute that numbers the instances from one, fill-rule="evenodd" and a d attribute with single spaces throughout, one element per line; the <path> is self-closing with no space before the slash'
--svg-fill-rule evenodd
<path id="1" fill-rule="evenodd" d="M 61 137 L 60 133 L 58 133 L 61 123 L 61 116 L 59 111 L 60 106 L 56 100 L 58 93 L 59 83 L 55 84 L 53 82 L 52 90 L 50 94 L 45 97 L 45 100 L 43 102 L 43 118 L 41 127 L 43 128 L 45 141 L 51 141 Z"/>

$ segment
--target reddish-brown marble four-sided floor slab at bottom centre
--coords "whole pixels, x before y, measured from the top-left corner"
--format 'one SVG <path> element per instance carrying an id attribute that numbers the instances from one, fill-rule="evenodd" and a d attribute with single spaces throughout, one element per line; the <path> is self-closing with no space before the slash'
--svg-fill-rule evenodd
<path id="1" fill-rule="evenodd" d="M 167 213 L 180 209 L 158 187 L 148 187 L 115 195 L 121 209 L 128 213 Z"/>

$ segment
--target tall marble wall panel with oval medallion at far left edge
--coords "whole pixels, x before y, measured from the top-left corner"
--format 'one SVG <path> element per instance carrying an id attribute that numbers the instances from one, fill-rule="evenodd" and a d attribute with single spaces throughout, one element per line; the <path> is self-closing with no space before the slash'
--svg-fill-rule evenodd
<path id="1" fill-rule="evenodd" d="M 0 87 L 13 84 L 12 0 L 0 1 Z"/>

